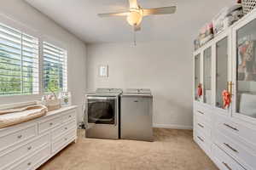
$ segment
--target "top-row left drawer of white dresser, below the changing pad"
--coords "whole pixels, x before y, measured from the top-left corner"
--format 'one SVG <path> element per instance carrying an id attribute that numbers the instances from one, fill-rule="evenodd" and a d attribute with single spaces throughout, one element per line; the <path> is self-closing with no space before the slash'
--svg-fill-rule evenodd
<path id="1" fill-rule="evenodd" d="M 0 136 L 0 150 L 5 150 L 15 144 L 20 144 L 26 139 L 32 139 L 37 135 L 37 125 L 21 128 L 15 132 L 4 133 Z"/>

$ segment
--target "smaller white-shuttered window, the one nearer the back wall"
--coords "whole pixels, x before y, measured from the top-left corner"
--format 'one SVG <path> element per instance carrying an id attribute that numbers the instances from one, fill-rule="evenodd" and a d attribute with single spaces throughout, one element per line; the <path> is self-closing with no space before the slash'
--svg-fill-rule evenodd
<path id="1" fill-rule="evenodd" d="M 44 92 L 67 91 L 67 51 L 43 42 Z"/>

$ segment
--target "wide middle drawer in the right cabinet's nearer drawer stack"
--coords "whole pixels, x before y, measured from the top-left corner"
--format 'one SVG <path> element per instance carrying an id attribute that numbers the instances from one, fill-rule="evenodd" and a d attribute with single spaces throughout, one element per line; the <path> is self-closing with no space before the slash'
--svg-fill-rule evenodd
<path id="1" fill-rule="evenodd" d="M 256 169 L 256 152 L 246 145 L 241 145 L 239 140 L 234 141 L 218 131 L 215 143 L 236 161 L 240 162 L 243 167 Z"/>

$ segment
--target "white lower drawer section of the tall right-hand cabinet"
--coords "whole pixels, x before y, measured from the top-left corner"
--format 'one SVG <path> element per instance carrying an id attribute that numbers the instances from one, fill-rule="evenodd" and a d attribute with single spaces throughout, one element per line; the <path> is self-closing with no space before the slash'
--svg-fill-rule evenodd
<path id="1" fill-rule="evenodd" d="M 198 114 L 198 110 L 207 114 Z M 256 125 L 223 115 L 208 106 L 195 104 L 195 142 L 220 170 L 256 169 L 255 132 Z"/>

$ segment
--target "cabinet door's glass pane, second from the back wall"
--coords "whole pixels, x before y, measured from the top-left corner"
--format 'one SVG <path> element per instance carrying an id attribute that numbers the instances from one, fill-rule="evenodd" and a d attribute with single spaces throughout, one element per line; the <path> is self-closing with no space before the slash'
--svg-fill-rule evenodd
<path id="1" fill-rule="evenodd" d="M 203 52 L 203 102 L 212 104 L 212 47 Z"/>

